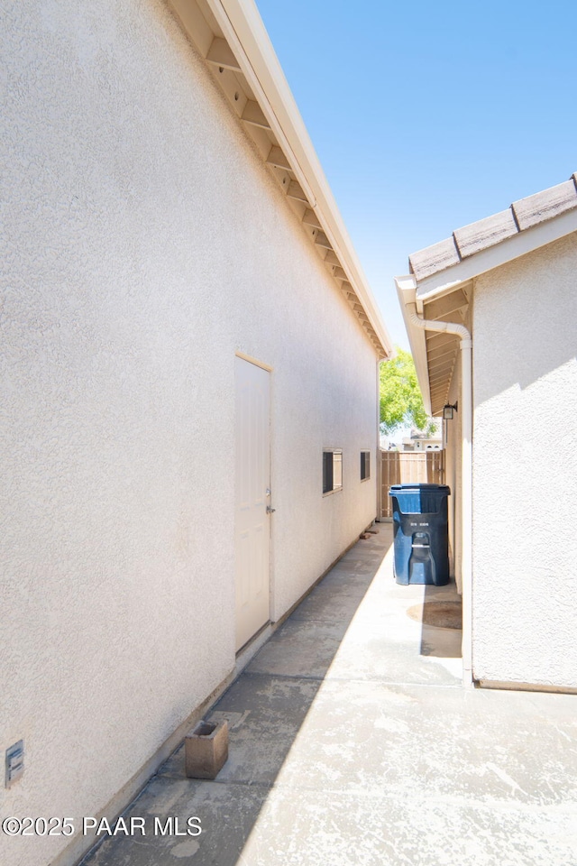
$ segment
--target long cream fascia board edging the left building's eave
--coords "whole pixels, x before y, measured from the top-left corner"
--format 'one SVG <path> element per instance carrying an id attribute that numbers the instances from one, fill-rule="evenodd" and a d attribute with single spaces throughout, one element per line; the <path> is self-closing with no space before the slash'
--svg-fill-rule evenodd
<path id="1" fill-rule="evenodd" d="M 389 332 L 256 5 L 253 0 L 206 0 L 206 5 L 233 49 L 270 128 L 289 157 L 298 182 L 316 210 L 334 253 L 343 263 L 343 270 L 350 278 L 380 343 L 387 356 L 392 355 Z"/>

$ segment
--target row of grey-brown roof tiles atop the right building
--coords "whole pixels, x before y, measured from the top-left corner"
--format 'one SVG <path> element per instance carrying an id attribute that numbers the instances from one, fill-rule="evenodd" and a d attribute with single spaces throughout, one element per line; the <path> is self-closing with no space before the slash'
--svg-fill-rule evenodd
<path id="1" fill-rule="evenodd" d="M 475 253 L 500 244 L 508 237 L 518 235 L 527 228 L 544 223 L 559 214 L 577 207 L 577 172 L 569 180 L 555 187 L 537 192 L 534 196 L 519 198 L 492 217 L 485 217 L 469 226 L 463 226 L 453 235 L 433 246 L 427 246 L 408 257 L 411 273 L 417 280 L 444 271 L 453 264 L 463 262 Z"/>

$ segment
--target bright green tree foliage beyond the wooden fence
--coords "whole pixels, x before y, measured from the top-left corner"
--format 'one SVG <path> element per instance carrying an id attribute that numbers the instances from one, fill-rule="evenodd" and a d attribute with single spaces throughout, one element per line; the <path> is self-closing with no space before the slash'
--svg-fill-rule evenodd
<path id="1" fill-rule="evenodd" d="M 398 345 L 392 361 L 380 364 L 380 428 L 392 433 L 400 427 L 434 427 L 426 416 L 413 356 Z"/>

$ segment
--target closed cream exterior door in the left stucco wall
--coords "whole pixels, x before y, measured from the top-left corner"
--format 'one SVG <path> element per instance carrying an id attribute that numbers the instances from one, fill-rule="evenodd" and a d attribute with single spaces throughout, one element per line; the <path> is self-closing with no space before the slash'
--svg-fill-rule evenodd
<path id="1" fill-rule="evenodd" d="M 236 358 L 236 649 L 269 622 L 270 373 Z"/>

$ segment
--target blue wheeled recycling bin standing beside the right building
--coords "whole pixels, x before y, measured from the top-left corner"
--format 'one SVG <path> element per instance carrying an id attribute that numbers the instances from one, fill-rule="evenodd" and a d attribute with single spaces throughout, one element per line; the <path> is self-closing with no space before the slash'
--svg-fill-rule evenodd
<path id="1" fill-rule="evenodd" d="M 395 579 L 398 584 L 449 583 L 449 528 L 446 484 L 393 484 Z"/>

